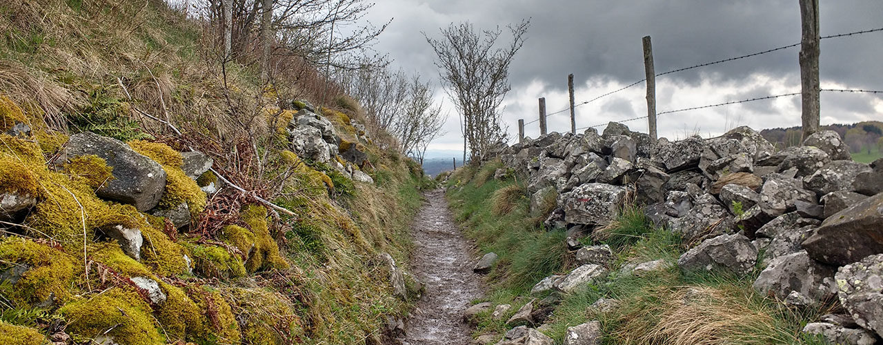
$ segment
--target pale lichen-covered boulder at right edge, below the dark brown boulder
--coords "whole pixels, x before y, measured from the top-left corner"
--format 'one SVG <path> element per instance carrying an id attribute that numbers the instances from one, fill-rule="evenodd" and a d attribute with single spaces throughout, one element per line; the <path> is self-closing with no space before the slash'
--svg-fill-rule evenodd
<path id="1" fill-rule="evenodd" d="M 837 297 L 856 323 L 883 336 L 883 254 L 842 266 L 834 277 Z"/>

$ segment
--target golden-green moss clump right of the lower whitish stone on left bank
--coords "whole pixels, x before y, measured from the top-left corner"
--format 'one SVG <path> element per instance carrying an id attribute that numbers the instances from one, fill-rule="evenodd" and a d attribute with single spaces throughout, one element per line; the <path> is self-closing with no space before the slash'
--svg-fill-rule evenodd
<path id="1" fill-rule="evenodd" d="M 190 299 L 183 289 L 160 281 L 160 288 L 166 294 L 166 302 L 155 311 L 156 320 L 168 334 L 169 341 L 185 340 L 191 337 L 204 338 L 206 327 L 203 311 Z"/>

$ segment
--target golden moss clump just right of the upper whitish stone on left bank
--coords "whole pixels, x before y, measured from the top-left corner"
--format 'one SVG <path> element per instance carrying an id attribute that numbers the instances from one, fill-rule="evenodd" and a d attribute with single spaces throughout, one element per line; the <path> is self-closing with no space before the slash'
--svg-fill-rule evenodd
<path id="1" fill-rule="evenodd" d="M 144 244 L 141 245 L 141 262 L 155 274 L 177 275 L 186 271 L 185 248 L 172 242 L 161 230 L 154 227 L 141 228 Z"/>

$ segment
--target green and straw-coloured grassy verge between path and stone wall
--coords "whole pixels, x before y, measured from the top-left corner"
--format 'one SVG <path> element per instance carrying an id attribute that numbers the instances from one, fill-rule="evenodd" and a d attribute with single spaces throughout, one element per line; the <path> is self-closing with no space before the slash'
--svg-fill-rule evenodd
<path id="1" fill-rule="evenodd" d="M 492 178 L 499 167 L 499 162 L 466 167 L 449 178 L 448 197 L 466 235 L 481 253 L 500 256 L 487 276 L 488 295 L 475 302 L 512 305 L 501 319 L 493 319 L 490 311 L 480 314 L 476 336 L 505 333 L 510 328 L 506 319 L 532 298 L 533 284 L 576 266 L 573 253 L 564 247 L 564 233 L 543 229 L 536 214 L 530 214 L 525 183 Z M 494 212 L 501 208 L 508 212 Z M 552 316 L 544 326 L 536 325 L 556 343 L 562 343 L 568 327 L 589 320 L 601 322 L 604 344 L 823 343 L 800 330 L 825 310 L 798 311 L 759 296 L 751 288 L 759 270 L 743 277 L 684 274 L 676 266 L 686 250 L 678 236 L 654 228 L 638 206 L 625 206 L 621 214 L 610 226 L 580 239 L 583 244 L 608 244 L 614 251 L 608 277 L 559 296 Z M 656 259 L 670 266 L 640 277 L 623 269 Z M 618 304 L 609 311 L 591 308 L 600 298 Z"/>

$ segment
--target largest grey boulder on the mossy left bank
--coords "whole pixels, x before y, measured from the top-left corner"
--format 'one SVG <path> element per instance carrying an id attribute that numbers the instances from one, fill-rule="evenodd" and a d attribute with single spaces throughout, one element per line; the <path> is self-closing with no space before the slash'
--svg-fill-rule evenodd
<path id="1" fill-rule="evenodd" d="M 72 135 L 56 161 L 64 164 L 88 154 L 101 157 L 113 169 L 113 178 L 95 191 L 99 197 L 130 204 L 141 212 L 159 204 L 166 183 L 165 170 L 159 163 L 135 152 L 122 141 L 89 131 Z"/>

